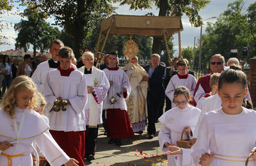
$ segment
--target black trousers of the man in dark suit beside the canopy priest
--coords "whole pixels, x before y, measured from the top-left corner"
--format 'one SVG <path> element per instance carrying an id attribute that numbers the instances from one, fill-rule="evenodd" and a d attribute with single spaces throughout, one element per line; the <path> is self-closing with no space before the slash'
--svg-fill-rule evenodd
<path id="1" fill-rule="evenodd" d="M 147 132 L 150 135 L 156 135 L 156 125 L 155 122 L 159 116 L 159 109 L 161 107 L 161 103 L 164 100 L 164 96 L 159 96 L 157 100 L 154 100 L 150 95 L 147 95 L 147 106 L 148 106 L 148 128 Z"/>

